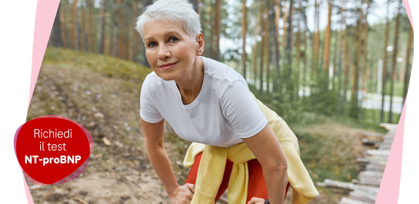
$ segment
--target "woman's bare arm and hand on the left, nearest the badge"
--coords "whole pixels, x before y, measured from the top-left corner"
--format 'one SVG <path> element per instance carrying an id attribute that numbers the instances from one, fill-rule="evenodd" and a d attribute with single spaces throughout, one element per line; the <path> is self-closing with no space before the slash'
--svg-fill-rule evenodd
<path id="1" fill-rule="evenodd" d="M 164 119 L 160 122 L 150 123 L 141 118 L 141 127 L 151 166 L 163 183 L 172 202 L 174 204 L 189 204 L 193 196 L 194 185 L 180 186 L 176 181 L 163 145 Z"/>

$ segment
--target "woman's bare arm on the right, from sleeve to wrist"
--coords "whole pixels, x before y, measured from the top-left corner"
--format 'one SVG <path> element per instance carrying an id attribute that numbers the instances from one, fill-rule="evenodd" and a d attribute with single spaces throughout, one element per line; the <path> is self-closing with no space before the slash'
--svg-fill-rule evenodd
<path id="1" fill-rule="evenodd" d="M 243 138 L 262 166 L 270 204 L 283 204 L 288 183 L 287 158 L 269 123 L 256 135 Z"/>

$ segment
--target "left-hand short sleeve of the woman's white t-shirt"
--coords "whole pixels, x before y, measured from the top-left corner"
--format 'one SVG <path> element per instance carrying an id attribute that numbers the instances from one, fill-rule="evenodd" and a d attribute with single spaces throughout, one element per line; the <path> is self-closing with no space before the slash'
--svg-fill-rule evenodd
<path id="1" fill-rule="evenodd" d="M 160 112 L 158 112 L 153 103 L 150 87 L 147 83 L 147 78 L 144 80 L 144 83 L 141 87 L 140 116 L 142 120 L 145 120 L 145 122 L 155 123 L 163 120 L 163 116 L 160 115 Z"/>

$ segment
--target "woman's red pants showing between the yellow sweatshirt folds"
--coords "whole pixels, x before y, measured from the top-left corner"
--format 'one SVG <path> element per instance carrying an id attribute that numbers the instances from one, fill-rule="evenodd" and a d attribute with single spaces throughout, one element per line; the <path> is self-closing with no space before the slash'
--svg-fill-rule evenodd
<path id="1" fill-rule="evenodd" d="M 201 161 L 201 156 L 202 156 L 202 153 L 199 153 L 197 155 L 197 158 L 195 159 L 195 162 L 191 167 L 191 171 L 189 171 L 189 175 L 186 178 L 185 183 L 195 184 L 197 180 L 198 167 L 199 167 L 199 161 Z M 248 189 L 247 189 L 246 203 L 250 201 L 252 197 L 267 199 L 268 190 L 266 189 L 266 183 L 263 177 L 261 164 L 259 163 L 257 159 L 252 159 L 247 162 L 247 165 L 249 169 L 249 184 L 248 184 Z M 232 168 L 233 168 L 233 162 L 227 159 L 227 163 L 225 165 L 225 170 L 224 170 L 224 176 L 222 177 L 220 189 L 218 189 L 218 193 L 217 193 L 217 196 L 215 197 L 214 203 L 221 197 L 221 195 L 227 189 Z M 287 191 L 289 187 L 290 187 L 290 183 L 288 182 L 287 189 L 285 190 L 285 195 L 287 195 Z"/>

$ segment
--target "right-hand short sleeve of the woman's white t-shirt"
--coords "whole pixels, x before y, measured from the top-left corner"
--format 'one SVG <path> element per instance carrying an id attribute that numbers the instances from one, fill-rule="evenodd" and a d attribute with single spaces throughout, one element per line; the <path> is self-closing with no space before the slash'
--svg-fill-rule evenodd
<path id="1" fill-rule="evenodd" d="M 224 117 L 241 138 L 259 133 L 268 123 L 249 89 L 241 81 L 231 82 L 221 100 Z"/>

